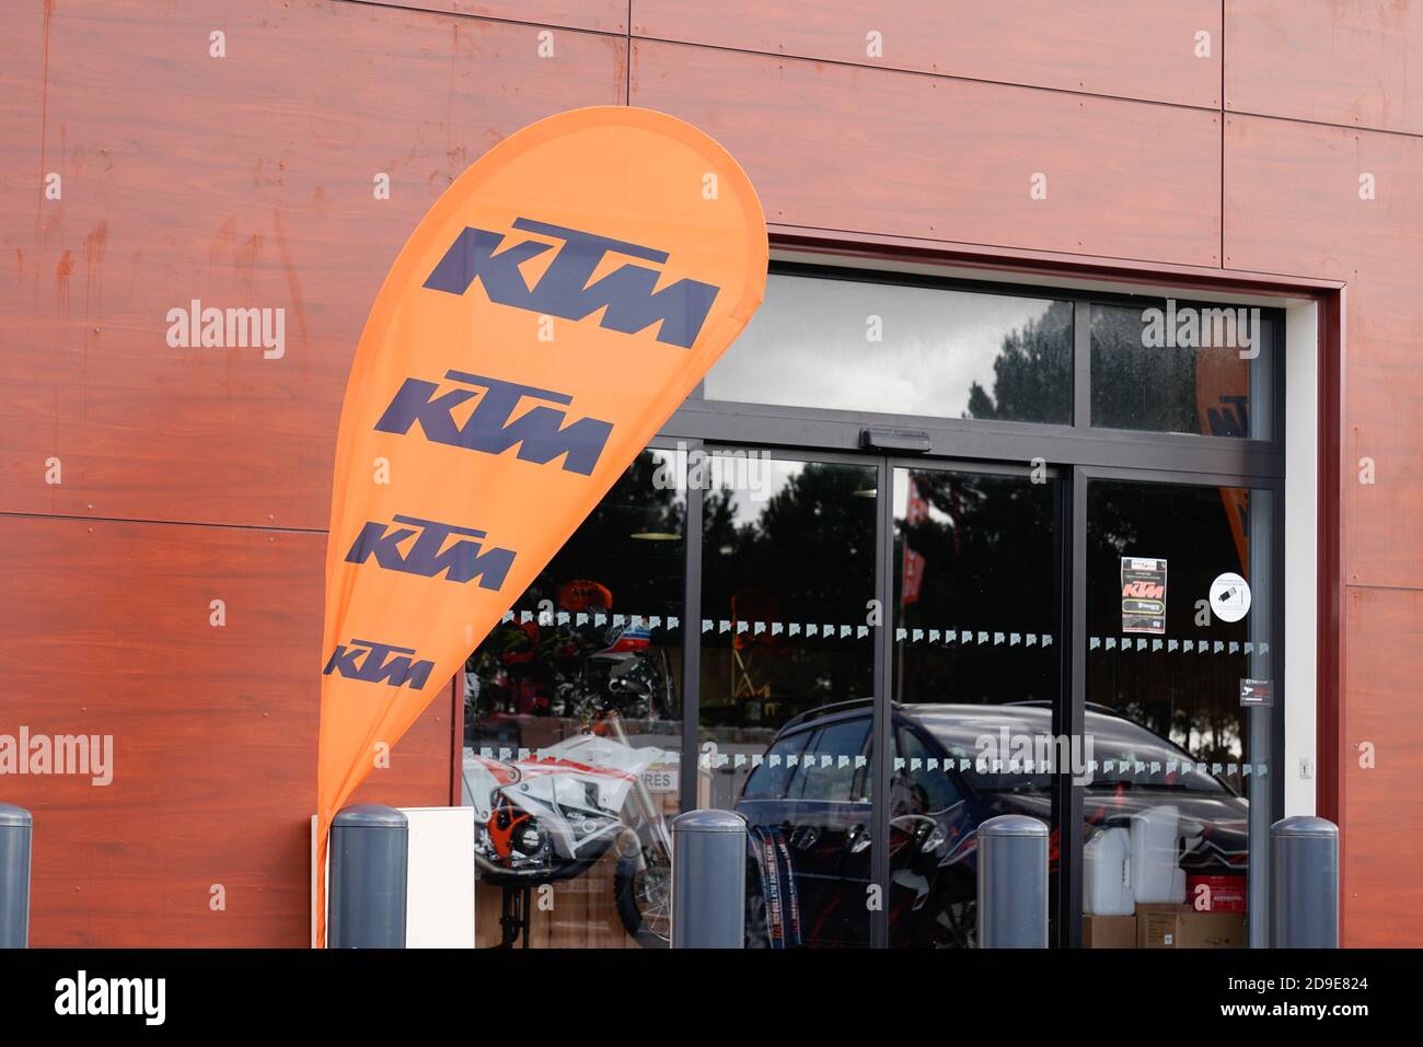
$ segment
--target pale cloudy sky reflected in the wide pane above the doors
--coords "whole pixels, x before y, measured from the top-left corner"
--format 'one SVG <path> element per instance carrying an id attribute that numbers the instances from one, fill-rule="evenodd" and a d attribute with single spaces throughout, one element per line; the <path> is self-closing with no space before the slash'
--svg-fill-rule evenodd
<path id="1" fill-rule="evenodd" d="M 1003 337 L 1052 303 L 773 273 L 766 303 L 712 368 L 709 400 L 958 418 L 993 393 Z M 869 341 L 871 316 L 882 341 Z"/>

